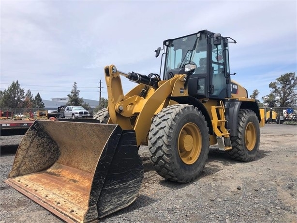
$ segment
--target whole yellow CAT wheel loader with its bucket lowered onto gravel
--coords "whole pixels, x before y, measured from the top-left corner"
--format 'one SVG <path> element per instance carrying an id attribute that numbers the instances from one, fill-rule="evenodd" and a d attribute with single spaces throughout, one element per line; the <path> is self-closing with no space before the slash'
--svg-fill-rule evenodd
<path id="1" fill-rule="evenodd" d="M 159 175 L 180 183 L 199 176 L 210 145 L 254 159 L 264 117 L 230 79 L 230 42 L 207 30 L 165 40 L 155 50 L 163 52 L 160 74 L 106 66 L 108 109 L 91 122 L 35 121 L 5 182 L 67 222 L 92 222 L 136 199 L 140 145 L 148 145 Z M 126 95 L 121 76 L 137 83 Z"/>

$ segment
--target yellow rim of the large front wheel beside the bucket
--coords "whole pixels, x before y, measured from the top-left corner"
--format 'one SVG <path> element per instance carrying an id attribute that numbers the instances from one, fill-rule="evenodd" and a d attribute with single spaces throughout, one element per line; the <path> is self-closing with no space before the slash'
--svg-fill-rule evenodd
<path id="1" fill-rule="evenodd" d="M 197 161 L 202 148 L 202 136 L 194 123 L 184 125 L 178 135 L 178 154 L 180 159 L 190 165 Z"/>

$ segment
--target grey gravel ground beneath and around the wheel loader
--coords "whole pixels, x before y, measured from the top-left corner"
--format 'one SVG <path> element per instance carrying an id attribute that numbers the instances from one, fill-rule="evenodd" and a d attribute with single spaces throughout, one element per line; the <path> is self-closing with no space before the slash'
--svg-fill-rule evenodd
<path id="1" fill-rule="evenodd" d="M 267 124 L 252 162 L 237 162 L 211 150 L 202 175 L 188 184 L 156 174 L 145 146 L 145 178 L 136 201 L 101 222 L 296 223 L 297 127 Z M 14 149 L 22 136 L 0 137 L 1 150 Z M 0 223 L 63 222 L 3 182 L 14 154 L 0 157 Z"/>

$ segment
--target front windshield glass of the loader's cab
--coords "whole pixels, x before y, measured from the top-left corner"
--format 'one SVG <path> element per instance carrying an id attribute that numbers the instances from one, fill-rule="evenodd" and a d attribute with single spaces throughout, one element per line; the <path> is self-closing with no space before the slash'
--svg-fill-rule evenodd
<path id="1" fill-rule="evenodd" d="M 206 62 L 207 39 L 205 35 L 197 39 L 197 34 L 182 37 L 172 40 L 167 50 L 166 72 L 189 63 L 198 67 L 201 58 Z"/>

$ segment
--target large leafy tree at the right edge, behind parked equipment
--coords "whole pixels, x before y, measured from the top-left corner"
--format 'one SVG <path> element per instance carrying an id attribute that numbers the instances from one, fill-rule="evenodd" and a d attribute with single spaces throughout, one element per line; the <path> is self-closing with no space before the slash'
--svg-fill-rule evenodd
<path id="1" fill-rule="evenodd" d="M 281 77 L 269 83 L 269 88 L 271 88 L 269 96 L 273 96 L 273 99 L 276 96 L 281 97 L 281 108 L 296 106 L 297 77 L 295 72 L 281 75 Z"/>

